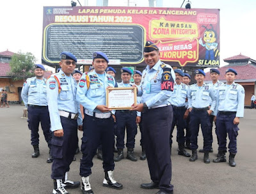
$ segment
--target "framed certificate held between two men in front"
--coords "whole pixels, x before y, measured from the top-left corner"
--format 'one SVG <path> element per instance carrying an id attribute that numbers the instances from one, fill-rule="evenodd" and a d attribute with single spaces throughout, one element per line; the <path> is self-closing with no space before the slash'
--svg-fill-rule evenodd
<path id="1" fill-rule="evenodd" d="M 110 87 L 106 92 L 106 104 L 109 109 L 131 109 L 137 104 L 136 87 Z"/>

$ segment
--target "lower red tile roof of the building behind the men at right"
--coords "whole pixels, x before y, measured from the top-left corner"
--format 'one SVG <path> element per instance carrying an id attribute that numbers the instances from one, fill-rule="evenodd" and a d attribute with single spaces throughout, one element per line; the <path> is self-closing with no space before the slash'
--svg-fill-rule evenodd
<path id="1" fill-rule="evenodd" d="M 227 68 L 233 68 L 237 71 L 237 80 L 250 80 L 250 79 L 256 79 L 256 67 L 252 64 L 246 64 L 243 66 L 223 66 L 220 69 L 220 77 L 219 80 L 225 80 L 225 73 Z M 211 80 L 210 78 L 210 72 L 205 73 L 205 81 Z"/>

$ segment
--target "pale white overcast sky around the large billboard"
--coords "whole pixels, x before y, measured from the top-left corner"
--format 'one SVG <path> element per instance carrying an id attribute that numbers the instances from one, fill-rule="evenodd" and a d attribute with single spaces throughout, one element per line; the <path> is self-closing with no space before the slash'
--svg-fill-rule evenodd
<path id="1" fill-rule="evenodd" d="M 74 0 L 77 2 L 77 0 Z M 79 0 L 95 6 L 96 0 Z M 128 0 L 109 0 L 109 6 L 127 6 Z M 183 8 L 186 5 L 185 1 Z M 189 0 L 191 8 L 220 9 L 220 65 L 223 59 L 243 54 L 256 60 L 255 0 Z M 44 6 L 70 6 L 70 0 L 12 0 L 0 7 L 0 52 L 31 52 L 41 63 Z M 163 0 L 163 7 L 180 8 L 183 0 Z M 129 0 L 148 6 L 148 0 Z M 6 6 L 3 6 L 6 4 Z M 77 6 L 79 3 L 77 2 Z"/>

